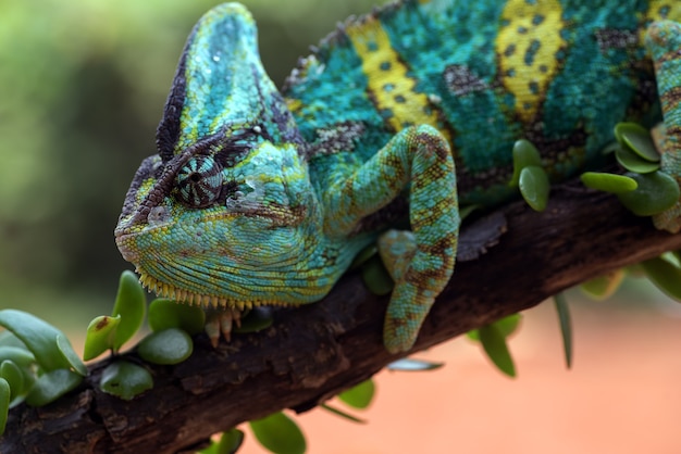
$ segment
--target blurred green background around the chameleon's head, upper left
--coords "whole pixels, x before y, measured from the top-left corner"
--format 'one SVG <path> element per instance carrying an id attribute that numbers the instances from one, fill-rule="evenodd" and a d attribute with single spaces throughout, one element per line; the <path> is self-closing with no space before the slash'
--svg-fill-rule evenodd
<path id="1" fill-rule="evenodd" d="M 84 330 L 124 262 L 123 198 L 194 23 L 219 1 L 0 0 L 0 308 Z M 281 85 L 308 47 L 375 0 L 246 1 Z"/>

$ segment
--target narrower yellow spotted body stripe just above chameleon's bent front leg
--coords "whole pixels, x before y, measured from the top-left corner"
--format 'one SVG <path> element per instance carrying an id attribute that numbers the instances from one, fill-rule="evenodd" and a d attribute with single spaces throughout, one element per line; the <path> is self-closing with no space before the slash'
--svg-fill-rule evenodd
<path id="1" fill-rule="evenodd" d="M 393 49 L 381 23 L 374 17 L 368 17 L 345 31 L 362 61 L 368 91 L 375 108 L 389 112 L 387 122 L 391 127 L 400 130 L 411 125 L 428 124 L 441 129 L 450 141 L 447 130 L 443 130 L 438 121 L 437 109 L 425 93 L 416 91 L 416 79 L 407 74 L 408 67 Z"/>

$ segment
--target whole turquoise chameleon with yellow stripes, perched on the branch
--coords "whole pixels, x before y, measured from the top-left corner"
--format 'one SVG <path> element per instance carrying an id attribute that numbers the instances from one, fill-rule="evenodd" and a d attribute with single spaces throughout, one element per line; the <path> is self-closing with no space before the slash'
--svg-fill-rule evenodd
<path id="1" fill-rule="evenodd" d="M 598 165 L 616 123 L 664 112 L 661 169 L 681 180 L 677 22 L 677 0 L 403 1 L 346 22 L 280 91 L 250 14 L 216 7 L 188 38 L 117 247 L 149 289 L 238 317 L 322 299 L 379 241 L 396 282 L 384 343 L 408 350 L 453 273 L 458 203 L 516 197 L 516 140 L 558 181 Z M 411 232 L 389 230 L 407 212 Z M 654 222 L 678 231 L 680 214 Z"/>

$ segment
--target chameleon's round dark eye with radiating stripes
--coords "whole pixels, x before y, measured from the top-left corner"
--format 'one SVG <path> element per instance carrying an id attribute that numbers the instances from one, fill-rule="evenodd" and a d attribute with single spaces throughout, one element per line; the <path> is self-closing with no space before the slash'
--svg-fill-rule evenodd
<path id="1" fill-rule="evenodd" d="M 195 209 L 215 202 L 222 190 L 221 171 L 210 156 L 195 156 L 187 161 L 175 177 L 181 201 Z"/>

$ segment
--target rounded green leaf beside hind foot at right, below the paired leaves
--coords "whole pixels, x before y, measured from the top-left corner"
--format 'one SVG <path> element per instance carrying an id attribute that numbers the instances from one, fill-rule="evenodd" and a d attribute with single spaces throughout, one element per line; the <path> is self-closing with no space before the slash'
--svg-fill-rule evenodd
<path id="1" fill-rule="evenodd" d="M 618 199 L 637 216 L 652 216 L 671 207 L 679 200 L 679 185 L 663 172 L 628 173 L 639 184 L 635 191 L 618 194 Z"/>

